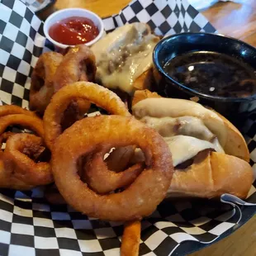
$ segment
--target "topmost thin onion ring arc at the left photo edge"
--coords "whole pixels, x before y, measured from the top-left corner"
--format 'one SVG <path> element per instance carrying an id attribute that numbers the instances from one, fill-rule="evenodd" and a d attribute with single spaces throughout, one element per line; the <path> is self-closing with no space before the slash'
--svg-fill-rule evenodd
<path id="1" fill-rule="evenodd" d="M 8 126 L 22 126 L 35 131 L 37 135 L 44 138 L 43 121 L 37 116 L 17 114 L 0 117 L 0 135 L 4 133 Z"/>

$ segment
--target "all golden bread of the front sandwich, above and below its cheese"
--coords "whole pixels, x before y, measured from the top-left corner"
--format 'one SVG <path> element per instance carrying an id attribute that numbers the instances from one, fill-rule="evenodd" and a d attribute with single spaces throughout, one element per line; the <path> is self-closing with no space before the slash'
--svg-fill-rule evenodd
<path id="1" fill-rule="evenodd" d="M 160 97 L 148 90 L 136 91 L 132 106 L 148 97 Z M 225 153 L 197 154 L 193 164 L 184 169 L 175 168 L 167 197 L 220 197 L 230 193 L 239 198 L 248 195 L 253 183 L 249 165 L 249 149 L 243 135 L 230 121 L 216 112 L 227 128 Z"/>

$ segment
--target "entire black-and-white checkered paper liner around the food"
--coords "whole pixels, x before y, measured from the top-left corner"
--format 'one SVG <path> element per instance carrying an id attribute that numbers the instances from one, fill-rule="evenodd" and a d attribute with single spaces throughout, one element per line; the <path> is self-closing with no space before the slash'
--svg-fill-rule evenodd
<path id="1" fill-rule="evenodd" d="M 215 32 L 187 1 L 130 2 L 104 20 L 106 31 L 126 22 L 143 21 L 157 34 Z M 43 23 L 19 0 L 0 1 L 0 98 L 3 104 L 28 107 L 31 72 L 38 57 L 53 45 L 45 40 Z M 93 116 L 92 108 L 88 116 Z M 256 172 L 256 114 L 244 124 Z M 256 202 L 256 183 L 248 201 Z M 239 211 L 238 211 L 239 209 Z M 242 212 L 242 217 L 240 215 Z M 255 207 L 232 207 L 217 201 L 163 201 L 142 220 L 140 255 L 184 255 L 221 239 L 244 224 Z M 0 255 L 119 255 L 122 223 L 100 221 L 71 207 L 50 205 L 44 187 L 29 192 L 0 190 Z"/>

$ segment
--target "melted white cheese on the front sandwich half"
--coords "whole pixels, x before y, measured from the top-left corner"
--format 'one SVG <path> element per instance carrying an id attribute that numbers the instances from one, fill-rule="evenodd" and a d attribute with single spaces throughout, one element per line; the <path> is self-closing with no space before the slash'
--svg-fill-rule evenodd
<path id="1" fill-rule="evenodd" d="M 204 149 L 224 153 L 226 130 L 222 119 L 196 102 L 147 98 L 135 104 L 132 111 L 137 119 L 164 137 L 173 155 L 174 167 Z M 143 160 L 144 154 L 136 149 L 134 161 Z"/>

